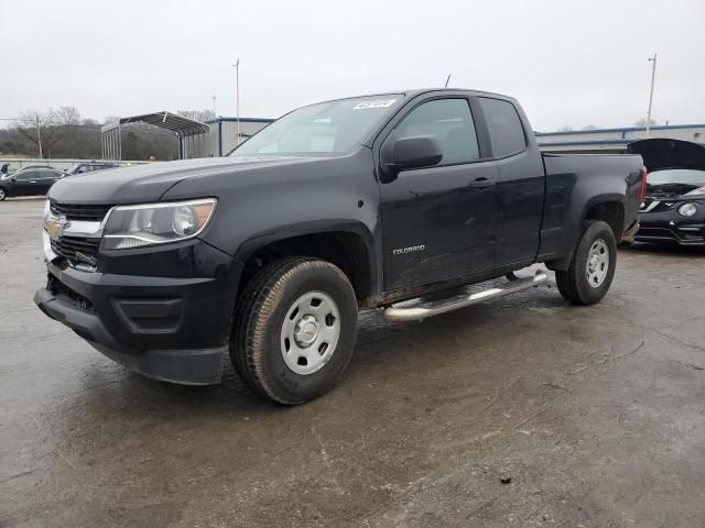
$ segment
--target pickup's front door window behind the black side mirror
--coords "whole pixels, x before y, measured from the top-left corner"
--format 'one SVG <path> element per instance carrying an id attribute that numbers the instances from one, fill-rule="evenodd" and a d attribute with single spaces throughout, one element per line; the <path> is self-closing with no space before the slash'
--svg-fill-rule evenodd
<path id="1" fill-rule="evenodd" d="M 479 160 L 475 122 L 466 99 L 437 99 L 414 108 L 395 128 L 395 138 L 433 135 L 441 143 L 441 165 Z"/>

